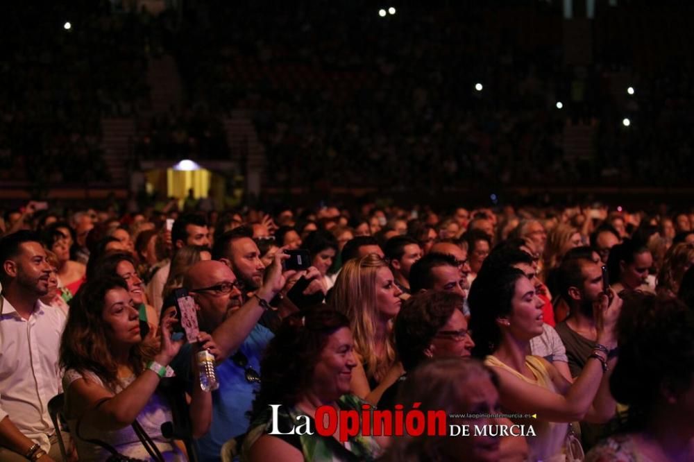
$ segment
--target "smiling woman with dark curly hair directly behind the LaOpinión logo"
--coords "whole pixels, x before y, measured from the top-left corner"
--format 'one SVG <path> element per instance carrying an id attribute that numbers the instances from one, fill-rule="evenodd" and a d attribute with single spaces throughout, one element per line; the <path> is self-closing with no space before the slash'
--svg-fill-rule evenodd
<path id="1" fill-rule="evenodd" d="M 261 363 L 260 392 L 253 402 L 253 423 L 244 438 L 242 459 L 375 460 L 381 452 L 376 438 L 357 434 L 340 443 L 339 424 L 333 436 L 321 436 L 315 430 L 313 434 L 269 434 L 273 428 L 289 433 L 299 416 L 307 416 L 315 429 L 312 418 L 320 406 L 361 413 L 366 403 L 349 393 L 356 366 L 349 320 L 344 314 L 318 308 L 285 318 Z M 273 412 L 271 404 L 280 407 Z"/>

